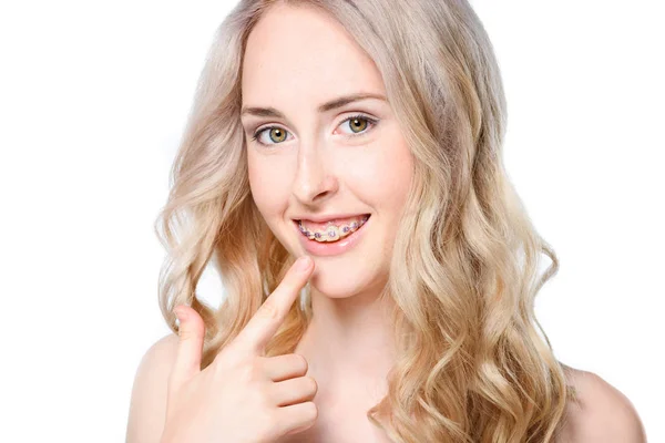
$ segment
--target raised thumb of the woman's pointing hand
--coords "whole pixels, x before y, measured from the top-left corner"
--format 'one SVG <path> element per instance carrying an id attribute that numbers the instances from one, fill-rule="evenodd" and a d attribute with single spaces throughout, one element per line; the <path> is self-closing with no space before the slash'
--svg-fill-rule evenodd
<path id="1" fill-rule="evenodd" d="M 180 320 L 180 339 L 171 381 L 180 387 L 201 372 L 205 324 L 198 312 L 186 305 L 178 305 L 174 312 Z"/>

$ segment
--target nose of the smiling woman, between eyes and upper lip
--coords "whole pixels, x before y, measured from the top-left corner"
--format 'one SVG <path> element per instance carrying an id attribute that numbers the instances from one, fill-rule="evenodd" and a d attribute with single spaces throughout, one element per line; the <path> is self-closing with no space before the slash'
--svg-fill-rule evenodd
<path id="1" fill-rule="evenodd" d="M 337 192 L 338 181 L 332 168 L 332 161 L 319 146 L 301 146 L 298 152 L 298 165 L 294 179 L 294 196 L 303 205 L 314 205 L 328 199 Z"/>

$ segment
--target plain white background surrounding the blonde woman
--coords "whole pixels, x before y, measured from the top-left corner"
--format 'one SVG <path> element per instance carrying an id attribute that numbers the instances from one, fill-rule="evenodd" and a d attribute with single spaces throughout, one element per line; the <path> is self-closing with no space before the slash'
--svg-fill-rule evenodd
<path id="1" fill-rule="evenodd" d="M 124 440 L 136 367 L 170 332 L 153 223 L 233 3 L 2 2 L 3 441 Z M 510 177 L 561 260 L 536 313 L 557 358 L 663 442 L 662 2 L 473 4 L 505 83 Z M 202 290 L 219 299 L 209 275 Z"/>

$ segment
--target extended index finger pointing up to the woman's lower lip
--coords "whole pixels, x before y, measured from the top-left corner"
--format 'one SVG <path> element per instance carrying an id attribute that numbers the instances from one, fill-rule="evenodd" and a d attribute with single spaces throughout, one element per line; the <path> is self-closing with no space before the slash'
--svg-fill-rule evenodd
<path id="1" fill-rule="evenodd" d="M 300 289 L 314 269 L 310 257 L 303 256 L 289 268 L 277 288 L 268 296 L 258 308 L 254 317 L 236 337 L 239 346 L 250 352 L 259 353 L 266 343 L 277 332 L 286 318 L 291 305 L 298 298 Z"/>

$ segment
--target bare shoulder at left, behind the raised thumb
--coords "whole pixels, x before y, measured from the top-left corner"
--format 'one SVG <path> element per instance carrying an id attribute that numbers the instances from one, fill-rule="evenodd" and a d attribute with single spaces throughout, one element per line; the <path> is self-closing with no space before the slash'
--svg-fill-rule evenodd
<path id="1" fill-rule="evenodd" d="M 175 361 L 178 337 L 171 333 L 157 340 L 143 356 L 136 370 L 126 443 L 156 443 L 166 415 L 168 375 Z"/>

